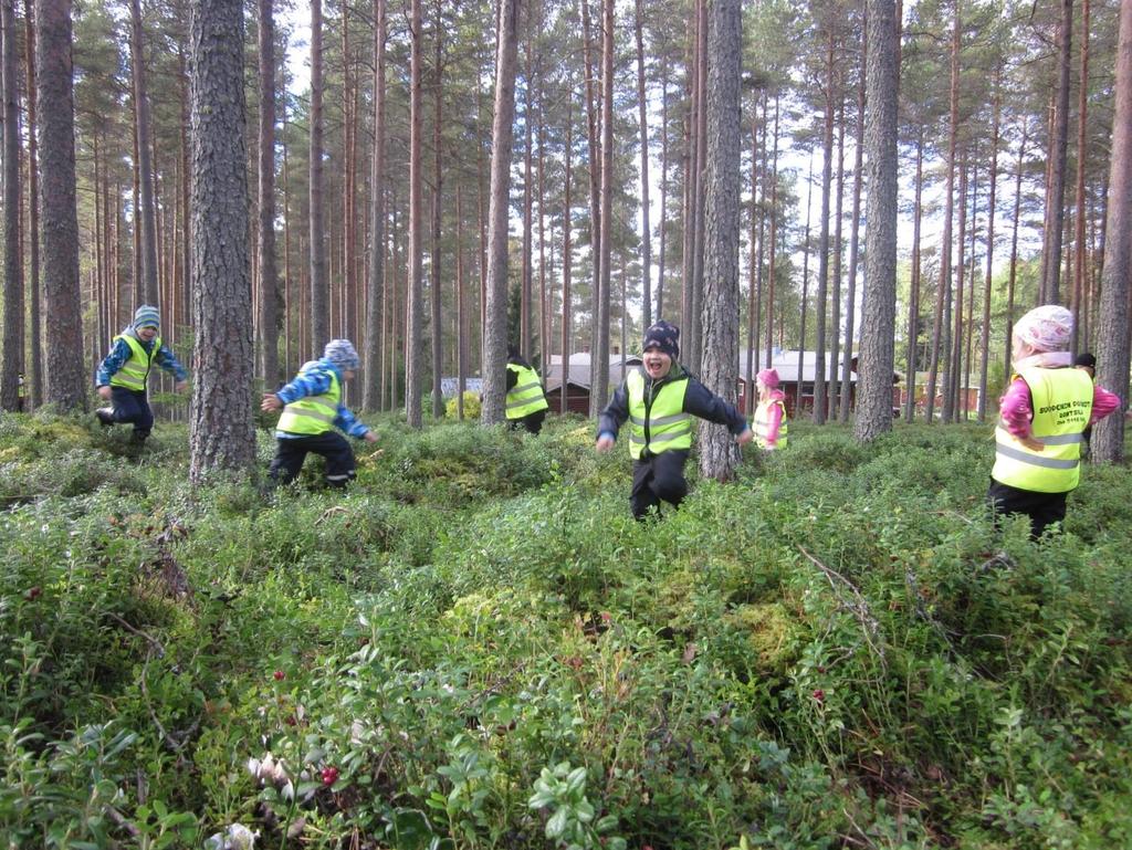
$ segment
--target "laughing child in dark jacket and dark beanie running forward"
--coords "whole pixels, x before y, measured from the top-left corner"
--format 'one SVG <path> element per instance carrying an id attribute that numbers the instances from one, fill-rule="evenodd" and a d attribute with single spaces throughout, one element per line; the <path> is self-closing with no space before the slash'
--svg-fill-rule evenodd
<path id="1" fill-rule="evenodd" d="M 667 501 L 679 507 L 688 492 L 684 464 L 692 448 L 693 417 L 727 426 L 744 446 L 754 438 L 747 420 L 677 361 L 679 329 L 658 321 L 644 335 L 643 366 L 629 372 L 598 421 L 598 452 L 614 447 L 617 432 L 629 420 L 633 457 L 633 516 L 643 520 L 650 508 Z"/>

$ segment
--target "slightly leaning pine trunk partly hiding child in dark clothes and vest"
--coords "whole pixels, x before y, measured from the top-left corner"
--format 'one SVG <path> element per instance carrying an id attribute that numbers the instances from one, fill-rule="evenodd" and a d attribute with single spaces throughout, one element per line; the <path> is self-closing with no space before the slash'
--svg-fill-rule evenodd
<path id="1" fill-rule="evenodd" d="M 515 60 L 521 0 L 500 0 L 496 58 L 495 119 L 491 126 L 491 196 L 488 213 L 487 321 L 483 344 L 481 422 L 504 420 L 507 363 L 507 209 L 514 144 Z"/>

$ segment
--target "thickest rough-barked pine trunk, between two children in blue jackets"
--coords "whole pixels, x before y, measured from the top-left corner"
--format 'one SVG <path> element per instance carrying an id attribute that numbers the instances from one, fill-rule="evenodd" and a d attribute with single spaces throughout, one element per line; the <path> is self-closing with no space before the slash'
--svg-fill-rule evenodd
<path id="1" fill-rule="evenodd" d="M 242 12 L 239 0 L 199 0 L 190 24 L 194 483 L 214 470 L 249 469 L 256 458 Z"/>

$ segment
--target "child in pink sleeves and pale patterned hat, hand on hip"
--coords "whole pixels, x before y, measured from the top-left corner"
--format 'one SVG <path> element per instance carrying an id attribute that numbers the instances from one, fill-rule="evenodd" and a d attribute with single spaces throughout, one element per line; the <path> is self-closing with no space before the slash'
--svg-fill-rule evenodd
<path id="1" fill-rule="evenodd" d="M 1065 518 L 1065 498 L 1081 474 L 1082 432 L 1120 398 L 1072 368 L 1073 314 L 1057 304 L 1030 310 L 1014 325 L 1014 375 L 998 401 L 995 464 L 987 503 L 996 515 L 1030 517 L 1030 535 Z"/>

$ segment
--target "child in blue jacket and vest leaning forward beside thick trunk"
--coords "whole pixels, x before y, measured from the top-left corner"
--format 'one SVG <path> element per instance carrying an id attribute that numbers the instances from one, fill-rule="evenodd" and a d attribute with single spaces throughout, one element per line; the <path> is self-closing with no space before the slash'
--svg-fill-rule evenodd
<path id="1" fill-rule="evenodd" d="M 281 484 L 294 480 L 314 452 L 326 458 L 326 483 L 344 488 L 357 474 L 353 448 L 334 430 L 376 443 L 377 435 L 342 404 L 342 384 L 358 371 L 358 352 L 349 340 L 326 343 L 321 360 L 305 363 L 299 375 L 277 393 L 265 393 L 264 411 L 283 411 L 275 430 L 271 476 Z"/>

